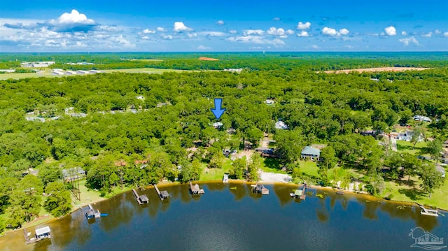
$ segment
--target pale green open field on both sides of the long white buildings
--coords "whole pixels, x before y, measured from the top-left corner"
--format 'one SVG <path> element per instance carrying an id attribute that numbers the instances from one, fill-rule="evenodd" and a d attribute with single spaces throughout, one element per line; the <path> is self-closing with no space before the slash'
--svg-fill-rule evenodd
<path id="1" fill-rule="evenodd" d="M 104 73 L 112 73 L 112 72 L 124 72 L 124 73 L 148 73 L 148 74 L 162 74 L 165 72 L 189 72 L 186 70 L 175 70 L 175 69 L 155 69 L 155 68 L 141 68 L 141 69 L 113 69 L 113 70 L 101 70 Z M 89 74 L 90 75 L 90 74 Z M 0 80 L 7 80 L 10 78 L 20 79 L 20 78 L 62 78 L 68 76 L 85 76 L 85 75 L 62 75 L 55 76 L 52 75 L 50 69 L 45 71 L 39 71 L 38 73 L 4 73 L 0 74 Z"/>

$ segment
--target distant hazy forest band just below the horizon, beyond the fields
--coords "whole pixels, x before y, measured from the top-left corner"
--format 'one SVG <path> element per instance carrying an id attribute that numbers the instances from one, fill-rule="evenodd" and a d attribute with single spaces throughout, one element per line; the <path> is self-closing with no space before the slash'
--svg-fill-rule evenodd
<path id="1" fill-rule="evenodd" d="M 0 53 L 3 62 L 0 69 L 18 67 L 20 62 L 55 61 L 51 68 L 71 70 L 105 69 L 183 69 L 223 70 L 247 68 L 257 71 L 272 69 L 307 69 L 327 71 L 369 67 L 446 67 L 447 52 L 262 52 L 253 53 Z M 199 57 L 211 57 L 218 61 L 200 61 Z M 141 59 L 131 60 L 131 59 Z M 148 61 L 148 59 L 159 59 Z M 69 62 L 87 62 L 94 65 L 70 65 Z"/>

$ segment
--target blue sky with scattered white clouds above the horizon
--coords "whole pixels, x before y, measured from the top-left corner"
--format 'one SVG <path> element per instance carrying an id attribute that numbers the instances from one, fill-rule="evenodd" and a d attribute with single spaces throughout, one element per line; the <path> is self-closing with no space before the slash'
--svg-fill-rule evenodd
<path id="1" fill-rule="evenodd" d="M 1 1 L 0 52 L 448 51 L 448 1 Z"/>

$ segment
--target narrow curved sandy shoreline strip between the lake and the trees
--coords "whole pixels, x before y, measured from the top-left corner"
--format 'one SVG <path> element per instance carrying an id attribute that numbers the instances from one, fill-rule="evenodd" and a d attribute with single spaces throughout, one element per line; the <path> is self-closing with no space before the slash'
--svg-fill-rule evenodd
<path id="1" fill-rule="evenodd" d="M 197 180 L 197 181 L 193 181 L 192 183 L 193 184 L 207 184 L 207 183 L 222 183 L 222 182 L 223 182 L 222 180 Z M 258 182 L 254 182 L 254 181 L 234 180 L 234 179 L 230 179 L 228 183 L 223 183 L 223 184 L 230 185 L 231 183 L 234 183 L 234 184 L 246 184 L 246 185 L 255 185 L 256 183 L 260 183 L 262 185 L 286 185 L 286 186 L 290 186 L 290 187 L 300 187 L 300 186 L 303 185 L 303 184 L 295 184 L 295 183 L 292 183 L 292 182 L 272 182 L 272 181 L 262 181 L 262 180 L 260 180 Z M 186 183 L 181 183 L 181 182 L 176 181 L 176 182 L 160 182 L 160 183 L 158 183 L 156 185 L 158 185 L 159 187 L 171 187 L 171 186 L 174 186 L 174 185 L 185 185 L 185 184 Z M 145 189 L 150 189 L 150 188 L 153 188 L 153 187 L 154 187 L 154 185 L 149 185 L 148 187 L 145 187 Z M 397 203 L 397 204 L 399 203 L 399 204 L 405 204 L 405 205 L 408 205 L 408 206 L 420 206 L 420 204 L 415 202 L 415 201 L 395 201 L 393 199 L 386 200 L 386 199 L 384 199 L 382 197 L 377 197 L 377 196 L 374 196 L 374 195 L 369 194 L 367 192 L 353 192 L 353 191 L 349 191 L 349 190 L 346 190 L 346 189 L 337 189 L 337 188 L 334 188 L 334 187 L 321 187 L 321 186 L 318 186 L 318 185 L 307 185 L 307 187 L 309 187 L 311 189 L 326 191 L 326 192 L 343 191 L 344 195 L 363 196 L 363 197 L 365 197 L 367 199 L 371 199 L 371 201 L 378 201 L 378 202 L 384 201 L 386 203 Z M 102 197 L 101 199 L 98 199 L 98 200 L 95 200 L 95 201 L 91 201 L 90 203 L 84 203 L 84 204 L 76 205 L 76 206 L 74 206 L 71 209 L 70 213 L 67 213 L 66 215 L 64 215 L 62 217 L 52 217 L 51 215 L 43 216 L 43 217 L 49 217 L 49 219 L 48 220 L 43 220 L 42 219 L 43 222 L 38 222 L 37 224 L 33 224 L 33 222 L 29 222 L 28 226 L 24 225 L 24 226 L 22 226 L 22 227 L 20 227 L 18 229 L 5 231 L 5 232 L 3 232 L 2 235 L 0 235 L 0 238 L 3 238 L 3 237 L 7 236 L 10 233 L 15 233 L 17 231 L 20 231 L 20 230 L 23 230 L 23 229 L 26 229 L 26 228 L 29 228 L 29 227 L 36 227 L 39 224 L 44 224 L 44 223 L 47 223 L 47 222 L 52 222 L 52 221 L 55 221 L 55 220 L 59 220 L 59 219 L 61 219 L 63 217 L 66 217 L 67 215 L 69 215 L 71 213 L 76 212 L 77 210 L 82 210 L 83 207 L 85 207 L 85 206 L 87 206 L 89 204 L 96 204 L 96 203 L 99 203 L 99 202 L 102 202 L 102 201 L 108 201 L 109 199 L 113 199 L 115 196 L 118 196 L 119 194 L 123 194 L 125 192 L 130 192 L 130 191 L 131 191 L 130 189 L 123 189 L 123 191 L 120 191 L 120 192 L 117 192 L 116 194 L 113 194 L 113 196 L 111 196 L 110 198 Z M 342 195 L 342 196 L 344 196 L 344 195 Z M 443 210 L 444 212 L 448 213 L 448 209 L 437 208 L 437 207 L 435 207 L 435 208 L 437 210 Z M 38 220 L 38 218 L 36 220 Z"/>

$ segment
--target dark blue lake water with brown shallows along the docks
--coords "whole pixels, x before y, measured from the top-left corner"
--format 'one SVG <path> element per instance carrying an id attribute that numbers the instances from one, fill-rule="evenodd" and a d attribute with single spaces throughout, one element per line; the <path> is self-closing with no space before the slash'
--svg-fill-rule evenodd
<path id="1" fill-rule="evenodd" d="M 150 200 L 144 206 L 127 192 L 94 205 L 107 217 L 87 222 L 77 210 L 37 226 L 50 227 L 50 240 L 25 245 L 17 231 L 0 238 L 0 250 L 422 250 L 410 247 L 415 227 L 448 243 L 448 214 L 316 189 L 298 201 L 291 185 L 266 187 L 269 195 L 261 196 L 246 184 L 207 183 L 198 196 L 188 185 L 165 186 L 165 201 L 154 189 L 139 191 Z"/>

